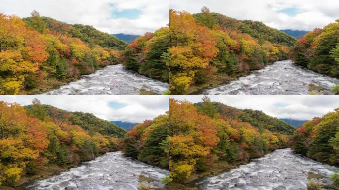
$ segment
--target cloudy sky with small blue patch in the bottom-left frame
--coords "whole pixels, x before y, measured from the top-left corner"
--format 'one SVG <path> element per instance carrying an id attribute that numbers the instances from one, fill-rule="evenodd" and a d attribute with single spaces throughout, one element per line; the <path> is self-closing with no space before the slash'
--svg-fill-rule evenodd
<path id="1" fill-rule="evenodd" d="M 0 101 L 30 105 L 33 98 L 67 111 L 82 111 L 108 121 L 142 122 L 169 110 L 168 96 L 0 96 Z"/>

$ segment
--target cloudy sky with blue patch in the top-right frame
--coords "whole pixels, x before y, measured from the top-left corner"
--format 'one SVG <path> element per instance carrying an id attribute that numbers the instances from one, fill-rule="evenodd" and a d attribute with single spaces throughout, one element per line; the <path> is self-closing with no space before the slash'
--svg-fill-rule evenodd
<path id="1" fill-rule="evenodd" d="M 339 19 L 339 0 L 170 0 L 170 8 L 190 13 L 200 12 L 203 6 L 277 29 L 311 31 Z"/>

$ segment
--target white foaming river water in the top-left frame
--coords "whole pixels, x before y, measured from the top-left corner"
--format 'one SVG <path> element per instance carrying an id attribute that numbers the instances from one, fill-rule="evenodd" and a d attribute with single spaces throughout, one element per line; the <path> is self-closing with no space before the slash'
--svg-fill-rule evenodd
<path id="1" fill-rule="evenodd" d="M 140 89 L 162 95 L 169 84 L 111 65 L 43 95 L 139 95 Z"/>

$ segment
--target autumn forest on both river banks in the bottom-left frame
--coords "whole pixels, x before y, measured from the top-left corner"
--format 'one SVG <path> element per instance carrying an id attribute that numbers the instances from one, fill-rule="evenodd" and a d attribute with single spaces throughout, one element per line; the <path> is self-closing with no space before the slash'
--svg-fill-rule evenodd
<path id="1" fill-rule="evenodd" d="M 0 186 L 16 187 L 46 178 L 118 150 L 169 169 L 168 134 L 168 113 L 127 132 L 93 114 L 65 111 L 38 99 L 28 106 L 1 101 Z M 166 184 L 169 178 L 162 181 Z"/>

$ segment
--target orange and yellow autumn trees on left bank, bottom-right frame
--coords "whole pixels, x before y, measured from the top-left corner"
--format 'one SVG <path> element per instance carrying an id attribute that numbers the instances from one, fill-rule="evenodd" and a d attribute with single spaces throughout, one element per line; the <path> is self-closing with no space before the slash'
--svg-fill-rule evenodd
<path id="1" fill-rule="evenodd" d="M 169 118 L 169 189 L 286 148 L 293 128 L 262 112 L 211 102 L 207 96 L 197 104 L 170 99 Z"/>

